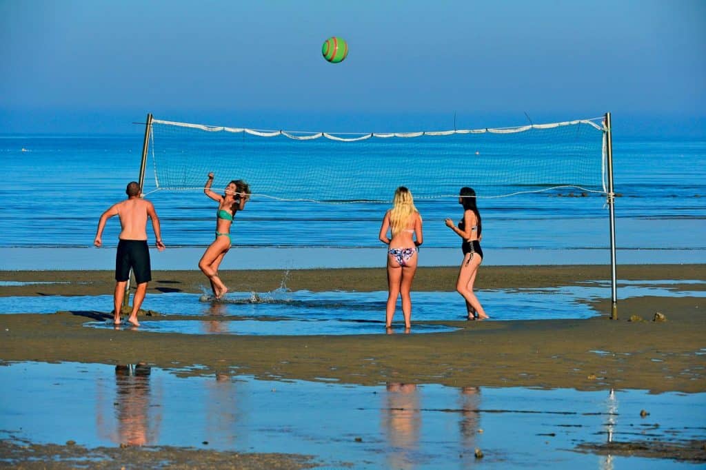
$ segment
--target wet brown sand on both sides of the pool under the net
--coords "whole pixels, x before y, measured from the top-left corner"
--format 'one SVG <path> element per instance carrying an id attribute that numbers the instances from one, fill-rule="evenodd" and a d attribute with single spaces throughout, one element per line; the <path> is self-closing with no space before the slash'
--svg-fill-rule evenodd
<path id="1" fill-rule="evenodd" d="M 248 270 L 224 271 L 222 275 L 232 291 L 271 291 L 282 285 L 311 291 L 386 288 L 385 270 L 381 268 L 285 273 Z M 456 267 L 419 268 L 413 289 L 452 291 L 456 274 Z M 609 266 L 489 266 L 479 272 L 477 290 L 482 296 L 484 289 L 551 287 L 609 277 Z M 148 296 L 159 292 L 200 292 L 200 286 L 205 285 L 205 278 L 196 271 L 156 271 L 153 279 Z M 664 281 L 676 290 L 706 290 L 706 284 L 687 282 L 706 280 L 706 265 L 621 266 L 618 279 Z M 114 287 L 110 271 L 4 271 L 0 272 L 0 280 L 66 282 L 1 286 L 1 296 L 112 294 Z M 360 385 L 394 380 L 453 387 L 706 391 L 706 367 L 702 365 L 706 345 L 705 299 L 657 296 L 619 299 L 616 320 L 609 319 L 610 299 L 589 305 L 599 316 L 586 320 L 506 322 L 437 320 L 427 323 L 459 329 L 424 335 L 385 335 L 381 327 L 379 335 L 340 337 L 183 335 L 82 326 L 86 321 L 110 318 L 107 312 L 112 306 L 106 306 L 104 312 L 4 314 L 0 315 L 0 363 L 145 362 L 179 370 L 180 375 L 244 374 L 271 380 L 335 380 Z M 462 308 L 461 301 L 450 308 Z M 666 315 L 666 322 L 651 321 L 657 311 Z M 631 315 L 639 315 L 645 321 L 628 321 Z M 149 318 L 150 321 L 180 319 L 184 318 L 158 314 Z M 213 316 L 204 319 L 225 321 Z"/>

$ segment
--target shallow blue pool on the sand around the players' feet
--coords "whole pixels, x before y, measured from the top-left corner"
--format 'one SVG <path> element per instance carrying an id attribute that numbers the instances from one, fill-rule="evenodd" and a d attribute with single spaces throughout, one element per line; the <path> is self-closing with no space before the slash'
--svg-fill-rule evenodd
<path id="1" fill-rule="evenodd" d="M 679 290 L 681 284 L 704 284 L 700 280 L 674 282 L 621 281 L 621 299 L 637 296 L 704 297 L 706 291 Z M 556 320 L 590 318 L 597 315 L 587 301 L 610 297 L 609 282 L 583 282 L 565 287 L 489 289 L 477 291 L 491 320 Z M 184 334 L 228 333 L 235 335 L 363 335 L 383 332 L 386 291 L 289 291 L 229 292 L 221 301 L 207 294 L 174 292 L 152 294 L 143 308 L 166 315 L 159 321 L 143 317 L 141 328 L 154 332 Z M 455 292 L 413 292 L 412 322 L 462 320 L 465 308 Z M 110 311 L 112 296 L 8 296 L 0 297 L 2 313 L 54 313 L 56 311 Z M 193 316 L 193 320 L 169 320 L 169 315 Z M 397 303 L 395 325 L 402 321 Z M 208 318 L 199 318 L 208 316 Z M 277 321 L 260 321 L 273 320 Z M 169 320 L 169 321 L 164 321 Z M 232 321 L 237 320 L 237 321 Z M 112 327 L 110 322 L 88 322 L 88 327 Z M 417 323 L 416 332 L 453 329 Z"/>

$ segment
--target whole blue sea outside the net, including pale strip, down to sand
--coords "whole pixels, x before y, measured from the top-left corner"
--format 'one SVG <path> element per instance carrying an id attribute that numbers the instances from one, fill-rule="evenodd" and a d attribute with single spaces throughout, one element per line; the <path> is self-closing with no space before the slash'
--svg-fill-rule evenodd
<path id="1" fill-rule="evenodd" d="M 138 179 L 142 145 L 138 134 L 0 135 L 1 269 L 109 269 L 119 222 L 109 220 L 100 249 L 92 247 L 97 222 L 125 198 L 126 183 Z M 440 140 L 438 145 L 445 144 Z M 706 263 L 706 140 L 614 136 L 613 155 L 618 265 Z M 148 162 L 145 189 L 155 186 L 151 167 Z M 390 184 L 391 199 L 395 185 Z M 157 267 L 194 268 L 213 241 L 213 200 L 202 191 L 155 191 L 148 198 L 168 247 L 168 254 L 153 258 Z M 610 263 L 604 195 L 569 188 L 551 197 L 517 195 L 478 204 L 486 264 Z M 459 263 L 460 239 L 444 223 L 447 217 L 462 217 L 457 199 L 417 200 L 416 205 L 424 217 L 420 264 Z M 378 231 L 388 207 L 254 197 L 237 214 L 232 229 L 237 255 L 227 256 L 224 267 L 384 265 Z M 148 234 L 153 241 L 149 229 Z"/>

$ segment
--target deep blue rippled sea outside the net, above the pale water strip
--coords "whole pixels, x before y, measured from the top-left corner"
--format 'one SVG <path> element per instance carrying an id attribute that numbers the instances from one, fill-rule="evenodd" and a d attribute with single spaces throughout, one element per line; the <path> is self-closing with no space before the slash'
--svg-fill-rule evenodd
<path id="1" fill-rule="evenodd" d="M 0 136 L 0 247 L 91 246 L 100 214 L 125 197 L 128 181 L 138 179 L 141 147 L 141 136 L 134 135 Z M 618 248 L 706 249 L 706 141 L 614 138 L 614 174 L 621 195 L 616 199 Z M 154 178 L 148 172 L 145 189 L 150 185 Z M 390 197 L 394 188 L 392 183 Z M 568 192 L 479 200 L 484 247 L 607 248 L 604 198 L 568 197 Z M 212 241 L 215 205 L 201 191 L 157 191 L 149 198 L 169 246 Z M 388 207 L 253 198 L 237 215 L 234 243 L 376 247 Z M 443 222 L 461 217 L 455 199 L 418 200 L 417 207 L 426 246 L 459 245 Z M 104 234 L 107 246 L 116 244 L 118 233 L 119 223 L 112 219 Z"/>

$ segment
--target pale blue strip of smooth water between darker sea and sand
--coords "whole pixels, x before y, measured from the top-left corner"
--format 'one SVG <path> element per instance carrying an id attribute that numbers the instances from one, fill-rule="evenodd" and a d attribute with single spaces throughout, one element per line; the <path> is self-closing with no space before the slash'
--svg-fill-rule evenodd
<path id="1" fill-rule="evenodd" d="M 197 270 L 205 247 L 167 247 L 162 252 L 150 249 L 153 270 Z M 484 266 L 566 266 L 610 265 L 608 248 L 484 248 Z M 460 250 L 423 247 L 420 267 L 460 265 Z M 385 247 L 248 247 L 234 246 L 224 258 L 222 270 L 341 269 L 385 267 Z M 618 248 L 618 266 L 706 264 L 706 250 L 695 248 Z M 0 247 L 5 270 L 111 270 L 115 248 L 92 247 Z"/>

